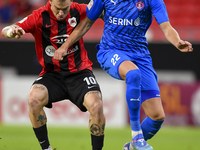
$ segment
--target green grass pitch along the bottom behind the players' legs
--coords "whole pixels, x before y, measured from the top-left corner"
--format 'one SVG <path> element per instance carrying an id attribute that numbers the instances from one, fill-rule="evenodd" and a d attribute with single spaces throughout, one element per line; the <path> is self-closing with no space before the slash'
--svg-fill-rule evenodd
<path id="1" fill-rule="evenodd" d="M 57 150 L 91 150 L 87 128 L 48 127 L 51 146 Z M 131 140 L 130 127 L 105 130 L 103 150 L 122 150 Z M 163 127 L 148 141 L 154 150 L 200 150 L 200 128 Z M 0 125 L 0 150 L 41 150 L 31 126 Z"/>

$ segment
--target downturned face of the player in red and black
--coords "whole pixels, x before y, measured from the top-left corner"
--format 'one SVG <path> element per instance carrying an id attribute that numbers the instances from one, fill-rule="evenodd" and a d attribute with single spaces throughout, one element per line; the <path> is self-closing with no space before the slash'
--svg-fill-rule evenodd
<path id="1" fill-rule="evenodd" d="M 66 18 L 70 10 L 71 0 L 50 0 L 51 10 L 56 19 L 62 21 Z"/>

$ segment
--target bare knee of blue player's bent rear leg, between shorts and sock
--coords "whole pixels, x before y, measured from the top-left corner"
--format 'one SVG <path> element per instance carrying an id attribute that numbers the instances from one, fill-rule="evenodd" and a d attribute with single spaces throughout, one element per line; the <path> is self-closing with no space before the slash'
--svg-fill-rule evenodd
<path id="1" fill-rule="evenodd" d="M 142 108 L 144 109 L 145 114 L 151 119 L 163 120 L 165 118 L 165 113 L 160 97 L 154 97 L 145 100 L 142 103 Z"/>

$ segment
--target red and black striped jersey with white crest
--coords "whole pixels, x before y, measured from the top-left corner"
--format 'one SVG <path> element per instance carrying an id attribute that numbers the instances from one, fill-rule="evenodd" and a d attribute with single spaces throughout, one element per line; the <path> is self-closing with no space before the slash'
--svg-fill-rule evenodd
<path id="1" fill-rule="evenodd" d="M 71 46 L 62 61 L 53 58 L 57 50 L 69 37 L 77 24 L 86 17 L 86 4 L 72 3 L 70 11 L 63 21 L 54 16 L 50 3 L 33 11 L 32 14 L 17 22 L 26 33 L 35 38 L 35 48 L 39 63 L 47 71 L 76 72 L 83 69 L 92 70 L 92 62 L 88 59 L 83 38 Z"/>

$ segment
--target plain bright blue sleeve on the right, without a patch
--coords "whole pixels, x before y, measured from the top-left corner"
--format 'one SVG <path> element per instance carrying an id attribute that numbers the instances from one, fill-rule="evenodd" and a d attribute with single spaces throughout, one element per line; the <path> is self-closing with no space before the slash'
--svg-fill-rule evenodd
<path id="1" fill-rule="evenodd" d="M 151 11 L 158 24 L 169 21 L 163 0 L 150 0 Z"/>

